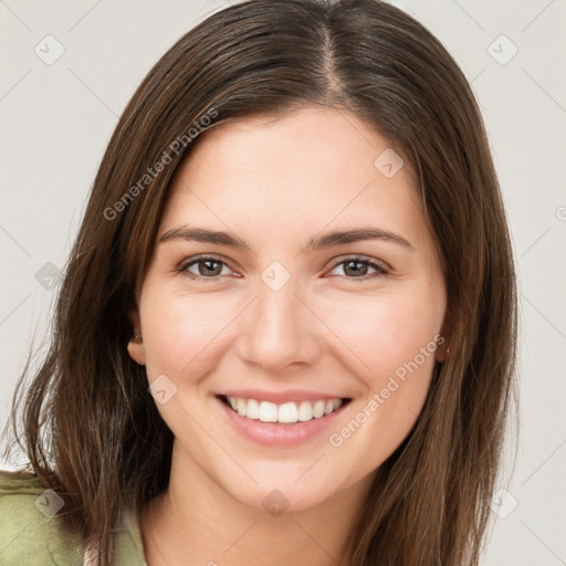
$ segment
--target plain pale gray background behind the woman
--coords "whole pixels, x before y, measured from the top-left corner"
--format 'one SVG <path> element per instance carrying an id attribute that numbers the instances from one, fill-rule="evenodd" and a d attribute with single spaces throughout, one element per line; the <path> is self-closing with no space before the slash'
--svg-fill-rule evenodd
<path id="1" fill-rule="evenodd" d="M 507 491 L 493 502 L 484 565 L 566 565 L 566 2 L 392 3 L 436 33 L 472 82 L 515 247 L 520 436 L 507 442 Z M 31 337 L 46 332 L 57 269 L 117 116 L 160 54 L 222 6 L 0 0 L 1 426 Z M 64 53 L 46 64 L 59 44 Z"/>

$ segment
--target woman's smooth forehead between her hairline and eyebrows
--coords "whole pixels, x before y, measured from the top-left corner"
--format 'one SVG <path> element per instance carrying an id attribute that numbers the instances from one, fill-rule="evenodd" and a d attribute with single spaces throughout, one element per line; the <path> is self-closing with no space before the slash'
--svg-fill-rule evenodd
<path id="1" fill-rule="evenodd" d="M 197 217 L 223 229 L 382 222 L 407 230 L 423 221 L 418 191 L 408 164 L 384 175 L 382 156 L 398 158 L 396 168 L 402 163 L 373 127 L 342 109 L 304 107 L 222 123 L 179 167 L 160 233 Z"/>

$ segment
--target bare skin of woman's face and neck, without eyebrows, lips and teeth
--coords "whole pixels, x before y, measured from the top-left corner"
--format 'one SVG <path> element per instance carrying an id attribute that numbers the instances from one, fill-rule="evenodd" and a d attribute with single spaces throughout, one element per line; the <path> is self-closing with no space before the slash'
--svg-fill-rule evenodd
<path id="1" fill-rule="evenodd" d="M 157 403 L 175 434 L 170 485 L 139 515 L 150 566 L 347 563 L 376 470 L 413 427 L 443 356 L 440 347 L 424 357 L 349 438 L 329 443 L 444 318 L 444 281 L 409 167 L 387 178 L 374 165 L 388 147 L 350 113 L 305 106 L 210 129 L 177 171 L 158 240 L 190 222 L 251 251 L 158 243 L 132 313 L 143 338 L 129 343 L 130 356 L 149 382 L 165 374 L 177 387 Z M 360 227 L 410 247 L 375 239 L 305 249 L 321 233 Z M 192 264 L 209 280 L 191 280 L 178 266 L 198 254 L 226 263 L 209 268 L 212 277 Z M 389 273 L 335 266 L 356 254 Z M 276 292 L 261 279 L 274 261 L 291 276 Z M 234 387 L 353 400 L 332 430 L 294 448 L 264 447 L 221 418 L 214 395 Z M 289 501 L 277 516 L 262 504 L 274 489 Z"/>

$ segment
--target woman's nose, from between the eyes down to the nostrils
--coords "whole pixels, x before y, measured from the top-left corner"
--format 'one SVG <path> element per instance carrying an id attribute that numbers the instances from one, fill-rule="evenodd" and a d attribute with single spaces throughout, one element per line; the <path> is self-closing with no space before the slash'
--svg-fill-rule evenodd
<path id="1" fill-rule="evenodd" d="M 274 291 L 260 281 L 254 301 L 240 319 L 240 358 L 265 373 L 281 374 L 293 364 L 313 364 L 321 354 L 317 333 L 324 325 L 292 282 Z"/>

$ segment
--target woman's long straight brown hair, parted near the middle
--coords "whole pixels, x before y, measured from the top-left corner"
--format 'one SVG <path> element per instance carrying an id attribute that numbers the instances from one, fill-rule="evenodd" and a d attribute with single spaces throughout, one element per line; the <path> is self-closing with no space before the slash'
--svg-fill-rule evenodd
<path id="1" fill-rule="evenodd" d="M 14 395 L 18 443 L 63 497 L 67 528 L 101 549 L 101 566 L 112 563 L 122 511 L 142 509 L 169 480 L 172 433 L 126 345 L 171 178 L 201 132 L 305 104 L 352 112 L 396 144 L 419 180 L 448 290 L 448 357 L 412 431 L 378 470 L 349 564 L 478 564 L 515 390 L 517 323 L 505 212 L 474 96 L 441 43 L 391 6 L 250 0 L 184 35 L 132 97 L 65 268 L 50 349 L 27 394 L 28 367 Z"/>

